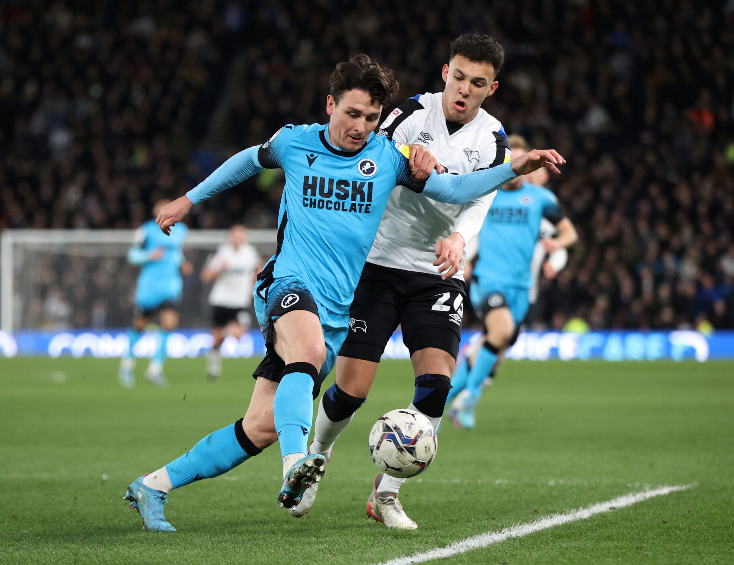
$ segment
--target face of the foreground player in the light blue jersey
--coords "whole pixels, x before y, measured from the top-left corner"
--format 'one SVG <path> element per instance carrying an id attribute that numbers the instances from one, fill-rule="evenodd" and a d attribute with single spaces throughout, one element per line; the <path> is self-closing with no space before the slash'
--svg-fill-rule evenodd
<path id="1" fill-rule="evenodd" d="M 382 106 L 372 102 L 364 90 L 347 90 L 336 103 L 332 95 L 326 98 L 326 113 L 330 115 L 329 140 L 344 151 L 356 151 L 367 141 L 377 124 Z"/>

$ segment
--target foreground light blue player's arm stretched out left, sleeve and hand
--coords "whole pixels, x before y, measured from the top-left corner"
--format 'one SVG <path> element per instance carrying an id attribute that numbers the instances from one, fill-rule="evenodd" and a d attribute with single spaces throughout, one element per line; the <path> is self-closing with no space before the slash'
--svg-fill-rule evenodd
<path id="1" fill-rule="evenodd" d="M 170 236 L 171 227 L 181 222 L 186 214 L 189 214 L 192 206 L 261 172 L 263 167 L 258 161 L 259 149 L 259 145 L 254 145 L 231 156 L 202 183 L 186 192 L 185 196 L 167 204 L 156 218 L 156 223 L 163 233 Z"/>

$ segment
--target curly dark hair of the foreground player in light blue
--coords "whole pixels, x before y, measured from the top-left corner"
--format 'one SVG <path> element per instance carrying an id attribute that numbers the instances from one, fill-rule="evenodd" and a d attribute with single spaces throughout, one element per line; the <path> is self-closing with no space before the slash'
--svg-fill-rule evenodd
<path id="1" fill-rule="evenodd" d="M 373 61 L 363 53 L 349 61 L 336 65 L 329 78 L 329 90 L 336 103 L 347 90 L 358 88 L 371 96 L 371 101 L 379 101 L 388 106 L 398 93 L 395 73 L 384 62 Z"/>

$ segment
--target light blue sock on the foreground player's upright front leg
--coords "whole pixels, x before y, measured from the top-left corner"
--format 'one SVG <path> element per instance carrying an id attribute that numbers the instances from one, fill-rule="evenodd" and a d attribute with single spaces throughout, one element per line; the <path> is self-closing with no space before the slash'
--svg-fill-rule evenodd
<path id="1" fill-rule="evenodd" d="M 291 363 L 277 385 L 273 399 L 275 431 L 283 457 L 290 453 L 306 453 L 308 432 L 313 419 L 313 377 L 307 370 L 316 373 L 310 363 Z"/>

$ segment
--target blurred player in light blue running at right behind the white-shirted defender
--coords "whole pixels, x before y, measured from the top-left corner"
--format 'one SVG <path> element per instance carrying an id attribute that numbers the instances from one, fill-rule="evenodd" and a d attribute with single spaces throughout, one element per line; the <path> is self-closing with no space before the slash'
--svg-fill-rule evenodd
<path id="1" fill-rule="evenodd" d="M 509 142 L 512 156 L 526 152 L 528 143 L 522 136 L 509 136 Z M 451 379 L 453 388 L 448 402 L 453 401 L 451 419 L 459 427 L 473 428 L 484 380 L 517 339 L 528 313 L 533 279 L 537 279 L 532 275 L 532 262 L 539 256 L 542 219 L 548 219 L 558 233 L 542 241 L 542 256 L 569 247 L 578 239 L 575 227 L 564 216 L 553 193 L 531 181 L 545 183 L 548 177 L 518 177 L 503 186 L 479 232 L 479 258 L 469 292 L 485 332 L 476 344 L 473 362 L 470 363 L 471 354 L 465 355 Z M 553 276 L 557 273 L 553 264 L 544 270 Z"/>

